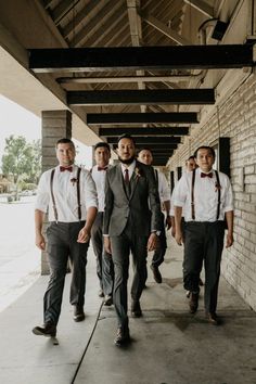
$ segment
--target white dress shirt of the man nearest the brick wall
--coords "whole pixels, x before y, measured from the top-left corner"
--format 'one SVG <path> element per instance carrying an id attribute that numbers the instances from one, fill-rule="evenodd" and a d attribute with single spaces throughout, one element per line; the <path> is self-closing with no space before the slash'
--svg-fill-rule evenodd
<path id="1" fill-rule="evenodd" d="M 218 206 L 218 189 L 216 188 L 217 180 L 215 171 L 213 170 L 213 178 L 201 177 L 202 170 L 195 170 L 194 182 L 194 213 L 195 221 L 210 221 L 217 220 Z M 227 175 L 219 174 L 220 181 L 220 210 L 219 220 L 225 219 L 225 213 L 233 210 L 233 196 L 230 180 Z M 193 172 L 185 172 L 178 181 L 174 191 L 174 205 L 182 207 L 182 216 L 185 221 L 192 221 L 191 212 L 191 189 L 192 189 Z"/>

